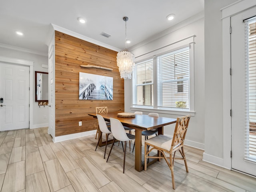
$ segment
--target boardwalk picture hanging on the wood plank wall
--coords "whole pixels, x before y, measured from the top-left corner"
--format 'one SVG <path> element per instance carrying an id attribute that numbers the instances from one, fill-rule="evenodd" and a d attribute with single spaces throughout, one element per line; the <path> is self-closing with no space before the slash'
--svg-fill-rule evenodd
<path id="1" fill-rule="evenodd" d="M 113 78 L 79 72 L 79 100 L 113 100 Z"/>

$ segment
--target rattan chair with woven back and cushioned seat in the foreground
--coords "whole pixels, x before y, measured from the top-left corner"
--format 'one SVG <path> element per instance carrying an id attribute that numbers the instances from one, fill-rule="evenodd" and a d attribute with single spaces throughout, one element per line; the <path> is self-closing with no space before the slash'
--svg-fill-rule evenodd
<path id="1" fill-rule="evenodd" d="M 166 163 L 168 164 L 171 173 L 172 173 L 172 188 L 175 189 L 175 182 L 174 182 L 174 173 L 173 173 L 173 164 L 174 164 L 174 159 L 176 160 L 184 160 L 185 166 L 186 166 L 186 172 L 188 172 L 188 166 L 186 162 L 186 156 L 184 153 L 183 145 L 184 145 L 184 140 L 186 136 L 186 132 L 188 129 L 188 123 L 190 120 L 190 115 L 183 116 L 183 117 L 178 117 L 173 138 L 171 139 L 170 137 L 164 136 L 164 135 L 158 135 L 153 138 L 150 138 L 145 141 L 145 164 L 144 164 L 144 170 L 147 170 L 147 159 L 148 158 L 158 158 L 162 159 L 164 158 Z M 152 148 L 150 148 L 152 147 Z M 158 153 L 158 156 L 149 156 L 150 152 L 152 150 L 158 150 L 160 153 Z M 175 158 L 175 153 L 176 151 L 179 151 L 182 158 Z M 170 155 L 169 160 L 166 158 L 166 155 L 164 152 L 168 153 Z M 162 156 L 161 156 L 162 154 Z M 173 154 L 173 157 L 172 157 Z"/>

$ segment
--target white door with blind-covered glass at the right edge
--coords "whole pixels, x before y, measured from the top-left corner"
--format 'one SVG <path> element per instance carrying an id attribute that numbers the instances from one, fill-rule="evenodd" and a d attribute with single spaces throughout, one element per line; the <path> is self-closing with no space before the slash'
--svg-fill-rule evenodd
<path id="1" fill-rule="evenodd" d="M 250 54 L 255 57 L 252 59 L 254 64 L 250 62 L 246 65 L 248 40 L 246 40 L 244 20 L 255 15 L 254 7 L 231 17 L 232 168 L 254 176 L 256 176 L 256 156 L 252 154 L 253 151 L 256 152 L 256 148 L 253 149 L 252 145 L 256 146 L 256 135 L 254 136 L 253 131 L 250 131 L 250 124 L 254 119 L 256 120 L 254 116 L 256 105 L 252 107 L 256 104 L 256 76 L 254 75 L 256 74 L 256 50 L 252 50 Z M 252 84 L 255 85 L 252 86 Z"/>

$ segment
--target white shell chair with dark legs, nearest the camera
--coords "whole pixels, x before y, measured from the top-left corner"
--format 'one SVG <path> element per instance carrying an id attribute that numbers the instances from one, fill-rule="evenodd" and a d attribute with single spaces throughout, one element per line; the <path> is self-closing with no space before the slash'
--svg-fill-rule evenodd
<path id="1" fill-rule="evenodd" d="M 126 142 L 134 140 L 135 136 L 132 134 L 126 133 L 124 130 L 124 126 L 118 119 L 110 118 L 110 126 L 111 126 L 111 132 L 113 134 L 114 140 L 110 148 L 108 158 L 114 146 L 115 139 L 121 142 L 124 142 L 124 166 L 125 166 Z M 107 162 L 108 162 L 108 159 L 107 159 Z M 124 173 L 124 166 L 123 166 L 123 173 Z"/>

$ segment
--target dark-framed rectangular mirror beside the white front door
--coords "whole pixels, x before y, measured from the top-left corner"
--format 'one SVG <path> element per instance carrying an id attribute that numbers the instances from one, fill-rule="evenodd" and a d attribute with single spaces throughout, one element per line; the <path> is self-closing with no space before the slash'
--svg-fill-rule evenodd
<path id="1" fill-rule="evenodd" d="M 36 102 L 48 102 L 48 72 L 35 71 Z"/>

